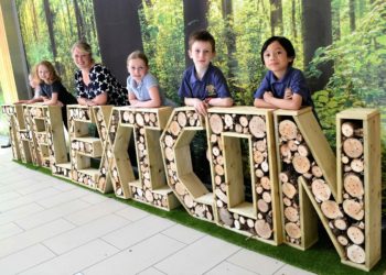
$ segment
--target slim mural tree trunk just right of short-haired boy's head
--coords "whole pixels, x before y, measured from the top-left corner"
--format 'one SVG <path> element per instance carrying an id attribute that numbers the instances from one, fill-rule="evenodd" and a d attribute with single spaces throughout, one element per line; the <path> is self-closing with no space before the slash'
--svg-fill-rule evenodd
<path id="1" fill-rule="evenodd" d="M 228 82 L 232 85 L 235 77 L 235 72 L 237 69 L 237 61 L 234 57 L 236 53 L 236 35 L 233 30 L 233 7 L 232 0 L 223 0 L 223 19 L 225 21 L 225 42 L 227 48 L 227 65 L 229 68 L 229 73 L 226 76 L 228 78 Z"/>

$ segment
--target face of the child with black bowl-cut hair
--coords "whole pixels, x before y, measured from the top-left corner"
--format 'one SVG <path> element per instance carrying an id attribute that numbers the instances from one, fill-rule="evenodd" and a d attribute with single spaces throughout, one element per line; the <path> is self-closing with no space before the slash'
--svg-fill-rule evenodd
<path id="1" fill-rule="evenodd" d="M 292 57 L 287 56 L 286 50 L 277 41 L 268 45 L 262 56 L 266 67 L 278 78 L 286 74 L 288 64 L 293 61 Z"/>

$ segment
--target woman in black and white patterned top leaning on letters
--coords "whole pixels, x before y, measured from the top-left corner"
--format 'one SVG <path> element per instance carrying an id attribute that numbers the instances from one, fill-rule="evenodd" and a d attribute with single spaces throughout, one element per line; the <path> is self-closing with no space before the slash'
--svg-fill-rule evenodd
<path id="1" fill-rule="evenodd" d="M 77 102 L 84 106 L 127 105 L 127 90 L 108 68 L 95 63 L 92 47 L 86 42 L 76 42 L 72 48 L 75 65 Z"/>

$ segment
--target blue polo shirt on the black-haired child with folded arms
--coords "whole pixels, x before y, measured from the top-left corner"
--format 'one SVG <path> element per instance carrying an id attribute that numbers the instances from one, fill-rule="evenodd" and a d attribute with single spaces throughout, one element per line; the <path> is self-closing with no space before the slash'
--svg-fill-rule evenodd
<path id="1" fill-rule="evenodd" d="M 305 77 L 300 69 L 288 67 L 282 79 L 277 79 L 271 70 L 268 70 L 259 88 L 255 91 L 255 98 L 262 98 L 265 91 L 271 91 L 276 98 L 285 98 L 286 88 L 302 97 L 302 106 L 313 107 L 311 92 L 307 87 Z"/>

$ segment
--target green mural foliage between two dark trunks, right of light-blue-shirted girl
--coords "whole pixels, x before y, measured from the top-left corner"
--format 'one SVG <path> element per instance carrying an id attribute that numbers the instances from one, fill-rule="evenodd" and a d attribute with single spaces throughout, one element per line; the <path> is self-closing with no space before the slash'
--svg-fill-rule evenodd
<path id="1" fill-rule="evenodd" d="M 150 70 L 165 95 L 178 101 L 178 90 L 185 69 L 182 1 L 143 1 L 140 24 L 143 51 Z"/>

